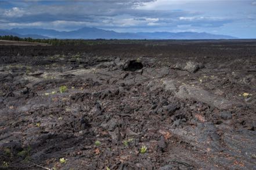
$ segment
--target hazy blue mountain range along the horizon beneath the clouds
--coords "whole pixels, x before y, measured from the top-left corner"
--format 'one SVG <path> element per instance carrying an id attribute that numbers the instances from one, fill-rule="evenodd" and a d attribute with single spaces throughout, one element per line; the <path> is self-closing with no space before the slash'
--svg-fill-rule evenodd
<path id="1" fill-rule="evenodd" d="M 40 28 L 0 29 L 0 36 L 13 35 L 20 38 L 58 39 L 237 39 L 228 35 L 206 32 L 115 32 L 99 28 L 84 27 L 74 31 L 56 31 Z"/>

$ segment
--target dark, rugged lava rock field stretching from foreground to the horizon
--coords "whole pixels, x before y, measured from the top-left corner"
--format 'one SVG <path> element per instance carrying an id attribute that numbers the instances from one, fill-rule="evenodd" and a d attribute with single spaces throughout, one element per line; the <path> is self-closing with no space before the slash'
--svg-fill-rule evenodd
<path id="1" fill-rule="evenodd" d="M 256 169 L 255 46 L 0 46 L 1 168 Z"/>

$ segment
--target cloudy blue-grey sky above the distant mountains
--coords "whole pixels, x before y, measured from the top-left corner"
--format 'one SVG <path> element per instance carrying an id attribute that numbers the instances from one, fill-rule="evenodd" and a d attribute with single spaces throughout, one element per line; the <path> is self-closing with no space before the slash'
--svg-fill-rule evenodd
<path id="1" fill-rule="evenodd" d="M 0 0 L 0 29 L 208 32 L 256 38 L 256 0 Z"/>

